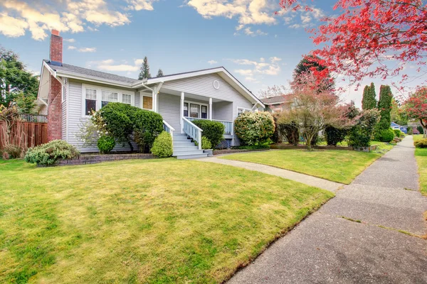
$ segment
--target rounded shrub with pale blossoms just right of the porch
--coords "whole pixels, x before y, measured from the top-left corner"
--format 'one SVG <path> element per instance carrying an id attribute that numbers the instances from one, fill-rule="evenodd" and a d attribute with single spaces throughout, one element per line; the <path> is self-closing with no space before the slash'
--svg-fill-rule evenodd
<path id="1" fill-rule="evenodd" d="M 266 111 L 243 112 L 234 121 L 236 136 L 245 145 L 255 145 L 268 141 L 273 136 L 274 129 L 273 116 Z"/>

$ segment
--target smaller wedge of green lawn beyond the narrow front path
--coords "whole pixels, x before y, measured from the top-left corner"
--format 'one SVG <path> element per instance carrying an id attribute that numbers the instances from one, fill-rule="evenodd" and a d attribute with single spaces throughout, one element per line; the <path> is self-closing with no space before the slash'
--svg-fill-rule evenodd
<path id="1" fill-rule="evenodd" d="M 381 145 L 380 148 L 382 151 L 387 151 L 391 147 L 389 145 Z M 381 153 L 374 152 L 365 153 L 344 150 L 306 151 L 297 149 L 238 153 L 226 155 L 221 158 L 272 165 L 277 168 L 293 170 L 298 173 L 305 173 L 318 178 L 349 184 L 380 156 Z"/>

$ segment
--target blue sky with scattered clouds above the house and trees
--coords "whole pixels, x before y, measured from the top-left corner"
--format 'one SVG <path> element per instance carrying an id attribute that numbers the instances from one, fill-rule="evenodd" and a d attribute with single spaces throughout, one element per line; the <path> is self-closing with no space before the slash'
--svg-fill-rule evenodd
<path id="1" fill-rule="evenodd" d="M 55 28 L 68 64 L 135 78 L 144 56 L 153 76 L 159 68 L 168 75 L 223 66 L 257 94 L 288 84 L 302 55 L 315 48 L 305 28 L 334 13 L 334 2 L 274 15 L 280 7 L 269 0 L 2 0 L 0 44 L 39 72 Z M 374 82 L 379 88 L 381 80 Z M 360 105 L 361 94 L 350 89 L 344 100 Z"/>

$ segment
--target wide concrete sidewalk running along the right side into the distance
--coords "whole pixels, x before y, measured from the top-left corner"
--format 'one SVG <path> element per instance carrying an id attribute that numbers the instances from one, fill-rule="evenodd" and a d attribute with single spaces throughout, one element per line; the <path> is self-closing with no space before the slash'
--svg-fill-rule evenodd
<path id="1" fill-rule="evenodd" d="M 228 283 L 427 283 L 413 151 L 407 136 Z"/>

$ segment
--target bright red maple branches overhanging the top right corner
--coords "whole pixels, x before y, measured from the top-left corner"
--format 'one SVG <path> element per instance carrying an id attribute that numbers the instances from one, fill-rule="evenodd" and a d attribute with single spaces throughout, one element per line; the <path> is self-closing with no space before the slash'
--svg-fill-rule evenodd
<path id="1" fill-rule="evenodd" d="M 310 2 L 280 0 L 280 6 L 310 11 Z M 310 30 L 320 45 L 313 55 L 330 71 L 349 76 L 352 83 L 396 75 L 403 82 L 408 75 L 401 71 L 409 62 L 426 71 L 427 4 L 422 0 L 337 0 L 334 11 L 339 15 Z"/>

